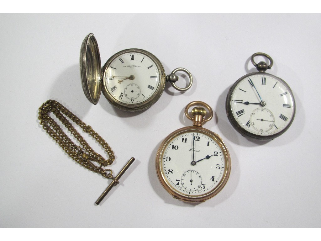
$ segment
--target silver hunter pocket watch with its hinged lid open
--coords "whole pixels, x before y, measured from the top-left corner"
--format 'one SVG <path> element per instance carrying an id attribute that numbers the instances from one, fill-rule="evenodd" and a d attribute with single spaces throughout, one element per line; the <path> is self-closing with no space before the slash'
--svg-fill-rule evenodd
<path id="1" fill-rule="evenodd" d="M 175 84 L 177 71 L 189 76 L 186 88 Z M 166 76 L 158 58 L 143 49 L 119 51 L 101 69 L 100 52 L 92 33 L 82 42 L 80 74 L 82 89 L 91 103 L 98 103 L 102 91 L 111 105 L 125 111 L 141 111 L 152 106 L 163 93 L 166 81 L 178 91 L 188 90 L 193 83 L 185 68 L 176 68 Z"/>

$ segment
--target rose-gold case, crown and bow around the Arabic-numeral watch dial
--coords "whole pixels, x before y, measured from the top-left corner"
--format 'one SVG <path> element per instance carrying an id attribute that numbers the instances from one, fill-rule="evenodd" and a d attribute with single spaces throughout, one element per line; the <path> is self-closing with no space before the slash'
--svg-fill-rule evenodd
<path id="1" fill-rule="evenodd" d="M 191 117 L 188 113 L 188 110 L 191 106 L 194 106 L 194 105 L 201 105 L 201 106 L 206 107 L 209 110 L 209 113 L 210 113 L 209 116 L 205 119 L 205 115 L 199 115 L 199 114 L 194 115 L 193 112 L 195 112 L 195 108 L 200 108 L 198 106 L 192 110 L 193 117 Z M 204 110 L 204 108 L 203 108 L 203 110 Z M 193 126 L 177 129 L 177 130 L 173 131 L 172 133 L 170 133 L 163 140 L 163 142 L 160 144 L 160 147 L 159 147 L 157 154 L 156 154 L 156 161 L 155 161 L 156 174 L 157 174 L 157 177 L 158 177 L 161 185 L 164 187 L 164 189 L 167 192 L 169 192 L 170 195 L 173 196 L 173 198 L 181 200 L 181 201 L 187 201 L 187 202 L 204 202 L 204 201 L 214 197 L 216 194 L 218 194 L 223 189 L 225 184 L 227 183 L 228 178 L 230 176 L 230 170 L 231 170 L 230 154 L 229 154 L 229 151 L 228 151 L 224 141 L 222 140 L 222 138 L 218 134 L 202 127 L 202 124 L 205 121 L 209 121 L 213 117 L 213 111 L 209 105 L 207 105 L 206 103 L 201 102 L 201 101 L 191 102 L 185 108 L 185 115 L 187 116 L 188 119 L 193 121 Z M 166 151 L 166 147 L 168 147 L 169 144 L 175 138 L 178 138 L 187 132 L 197 132 L 197 133 L 207 135 L 208 137 L 212 138 L 214 140 L 214 142 L 216 142 L 222 150 L 222 154 L 224 156 L 224 162 L 225 162 L 224 172 L 222 174 L 222 178 L 220 179 L 219 183 L 210 192 L 205 192 L 205 193 L 201 193 L 201 194 L 197 194 L 197 195 L 189 195 L 187 193 L 180 192 L 177 189 L 173 188 L 172 185 L 170 185 L 169 180 L 166 178 L 166 175 L 165 175 L 164 170 L 162 168 L 162 165 L 163 165 L 162 164 L 163 163 L 162 156 L 164 155 L 164 152 Z M 179 161 L 186 161 L 186 160 L 179 160 Z M 192 168 L 192 166 L 193 166 L 193 164 L 191 164 L 191 168 Z"/>

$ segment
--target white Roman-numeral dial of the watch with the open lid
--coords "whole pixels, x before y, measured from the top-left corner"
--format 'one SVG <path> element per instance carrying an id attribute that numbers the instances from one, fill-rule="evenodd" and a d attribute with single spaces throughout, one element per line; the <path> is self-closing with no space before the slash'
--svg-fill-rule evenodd
<path id="1" fill-rule="evenodd" d="M 105 70 L 103 84 L 115 101 L 139 104 L 150 99 L 160 85 L 160 70 L 141 52 L 117 55 Z"/>

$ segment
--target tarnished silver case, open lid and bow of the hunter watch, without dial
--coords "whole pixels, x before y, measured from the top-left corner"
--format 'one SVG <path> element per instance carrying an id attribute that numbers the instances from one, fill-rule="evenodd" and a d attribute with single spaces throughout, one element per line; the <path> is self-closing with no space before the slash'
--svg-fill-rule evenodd
<path id="1" fill-rule="evenodd" d="M 109 93 L 108 89 L 106 88 L 106 85 L 104 85 L 106 71 L 110 63 L 112 63 L 113 60 L 115 60 L 122 54 L 129 52 L 142 53 L 143 55 L 146 55 L 150 59 L 152 59 L 152 61 L 156 64 L 160 76 L 159 85 L 155 86 L 155 88 L 157 88 L 156 91 L 152 94 L 152 96 L 150 96 L 141 103 L 127 104 L 120 102 L 119 100 L 117 100 L 117 98 L 115 98 L 113 95 Z M 187 75 L 189 76 L 190 82 L 186 88 L 179 88 L 175 85 L 175 82 L 178 80 L 178 76 L 175 75 L 177 71 L 183 71 L 187 73 Z M 166 76 L 164 67 L 160 63 L 159 59 L 156 58 L 152 53 L 143 49 L 125 49 L 119 51 L 113 56 L 111 56 L 101 69 L 100 52 L 97 40 L 92 33 L 88 34 L 86 38 L 82 41 L 80 51 L 80 74 L 83 92 L 86 98 L 91 103 L 97 104 L 100 98 L 100 93 L 102 92 L 111 105 L 124 111 L 142 111 L 152 106 L 163 93 L 166 81 L 169 81 L 171 85 L 179 91 L 188 90 L 193 83 L 192 75 L 187 69 L 184 68 L 177 68 L 173 70 L 170 75 Z"/>

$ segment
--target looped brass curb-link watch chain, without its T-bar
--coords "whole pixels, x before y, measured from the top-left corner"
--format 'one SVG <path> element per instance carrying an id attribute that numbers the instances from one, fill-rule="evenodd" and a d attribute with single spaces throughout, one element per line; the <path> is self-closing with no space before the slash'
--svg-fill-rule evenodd
<path id="1" fill-rule="evenodd" d="M 52 112 L 61 121 L 70 133 L 78 140 L 81 146 L 77 146 L 74 142 L 65 134 L 60 126 L 49 116 Z M 68 117 L 80 126 L 84 132 L 91 135 L 102 146 L 108 154 L 108 160 L 104 159 L 100 154 L 94 152 L 84 138 L 74 129 L 73 125 L 65 118 Z M 62 104 L 55 100 L 48 100 L 39 107 L 40 125 L 46 130 L 50 137 L 52 137 L 56 143 L 77 163 L 86 167 L 87 169 L 99 173 L 102 176 L 114 179 L 112 171 L 110 169 L 104 169 L 102 166 L 111 165 L 115 160 L 114 152 L 109 147 L 108 143 L 95 132 L 91 126 L 87 126 L 77 116 L 66 109 Z M 96 166 L 93 162 L 99 163 L 100 166 Z M 109 172 L 109 174 L 107 174 Z"/>

